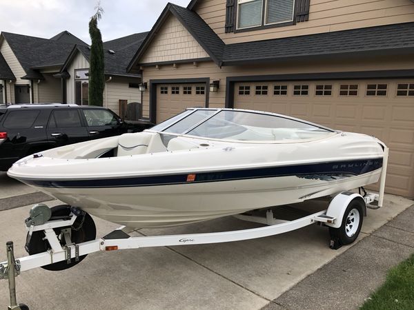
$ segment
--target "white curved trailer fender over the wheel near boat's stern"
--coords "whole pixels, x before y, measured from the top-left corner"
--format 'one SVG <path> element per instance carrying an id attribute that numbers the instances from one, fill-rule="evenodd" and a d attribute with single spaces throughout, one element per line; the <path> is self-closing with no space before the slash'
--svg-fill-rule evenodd
<path id="1" fill-rule="evenodd" d="M 329 203 L 328 209 L 326 210 L 326 215 L 336 218 L 335 223 L 326 223 L 325 225 L 339 228 L 342 224 L 342 218 L 344 217 L 344 213 L 346 207 L 351 203 L 352 200 L 359 199 L 362 201 L 364 205 L 364 216 L 366 216 L 366 205 L 364 198 L 361 195 L 353 192 L 342 192 L 337 194 L 331 203 Z"/>

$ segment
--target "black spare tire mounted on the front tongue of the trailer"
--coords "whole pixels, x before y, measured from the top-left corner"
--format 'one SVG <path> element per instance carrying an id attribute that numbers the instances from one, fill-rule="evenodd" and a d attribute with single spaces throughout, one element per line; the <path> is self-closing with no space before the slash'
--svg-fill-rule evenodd
<path id="1" fill-rule="evenodd" d="M 50 208 L 52 210 L 52 217 L 53 216 L 69 216 L 70 214 L 70 205 L 57 205 L 56 207 Z M 60 236 L 61 229 L 68 228 L 68 227 L 58 227 L 55 230 L 58 238 Z M 71 231 L 71 238 L 70 240 L 76 244 L 81 242 L 86 242 L 90 240 L 94 240 L 97 235 L 97 230 L 95 227 L 95 223 L 90 217 L 88 213 L 84 213 L 84 216 L 79 216 L 75 223 L 72 225 Z M 43 240 L 45 234 L 43 231 L 34 231 L 32 234 L 32 238 L 30 238 L 30 242 L 26 250 L 28 254 L 38 254 L 50 249 L 50 245 L 48 240 Z M 65 241 L 61 240 L 61 245 L 65 245 Z M 68 269 L 77 265 L 83 258 L 86 258 L 86 255 L 79 256 L 79 261 L 75 262 L 75 258 L 72 258 L 70 264 L 65 261 L 55 262 L 54 264 L 43 266 L 43 269 L 51 270 L 51 271 L 58 271 Z"/>

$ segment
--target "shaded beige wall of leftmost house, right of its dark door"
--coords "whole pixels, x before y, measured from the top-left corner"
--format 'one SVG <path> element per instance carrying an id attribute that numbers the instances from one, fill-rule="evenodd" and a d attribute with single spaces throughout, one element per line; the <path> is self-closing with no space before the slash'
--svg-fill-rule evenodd
<path id="1" fill-rule="evenodd" d="M 61 80 L 54 78 L 52 74 L 43 74 L 43 76 L 45 79 L 40 81 L 39 84 L 34 83 L 36 85 L 34 87 L 35 102 L 60 103 L 62 101 Z"/>

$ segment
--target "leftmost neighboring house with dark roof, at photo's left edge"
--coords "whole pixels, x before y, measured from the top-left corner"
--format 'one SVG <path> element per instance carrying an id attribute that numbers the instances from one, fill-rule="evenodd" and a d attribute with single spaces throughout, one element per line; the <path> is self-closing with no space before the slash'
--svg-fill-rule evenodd
<path id="1" fill-rule="evenodd" d="M 86 45 L 67 31 L 52 39 L 0 34 L 0 103 L 61 102 L 61 70 L 75 44 Z"/>

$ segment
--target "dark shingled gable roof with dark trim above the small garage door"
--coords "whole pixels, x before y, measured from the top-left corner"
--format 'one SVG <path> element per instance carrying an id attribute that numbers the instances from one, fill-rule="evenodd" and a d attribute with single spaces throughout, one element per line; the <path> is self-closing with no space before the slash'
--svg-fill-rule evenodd
<path id="1" fill-rule="evenodd" d="M 191 36 L 199 43 L 201 48 L 206 51 L 213 61 L 221 66 L 221 56 L 224 51 L 224 42 L 217 36 L 217 34 L 206 24 L 206 22 L 199 17 L 199 15 L 187 8 L 176 6 L 175 4 L 168 3 L 164 11 L 157 19 L 155 25 L 152 27 L 150 33 L 142 43 L 141 47 L 132 58 L 132 61 L 128 65 L 127 70 L 132 70 L 132 67 L 144 56 L 146 50 L 150 47 L 152 40 L 157 37 L 157 33 L 161 29 L 162 25 L 167 21 L 170 14 L 186 28 Z"/>

